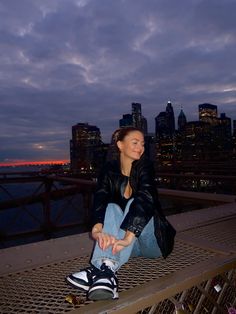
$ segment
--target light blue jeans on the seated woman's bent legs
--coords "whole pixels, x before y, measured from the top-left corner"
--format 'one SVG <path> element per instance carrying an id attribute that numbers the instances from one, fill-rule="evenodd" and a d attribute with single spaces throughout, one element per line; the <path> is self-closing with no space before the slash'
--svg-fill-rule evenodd
<path id="1" fill-rule="evenodd" d="M 124 212 L 117 204 L 108 204 L 103 224 L 103 231 L 105 233 L 111 234 L 117 239 L 124 238 L 125 231 L 120 228 L 120 225 L 128 213 L 132 201 L 132 199 L 129 200 Z M 115 255 L 112 254 L 111 247 L 103 251 L 98 246 L 98 243 L 96 243 L 90 262 L 92 265 L 100 269 L 103 260 L 109 259 L 113 261 L 114 270 L 117 271 L 129 260 L 130 257 L 136 256 L 144 256 L 148 258 L 157 258 L 161 256 L 161 251 L 154 235 L 153 218 L 147 223 L 138 238 L 135 238 L 129 246 L 125 247 Z"/>

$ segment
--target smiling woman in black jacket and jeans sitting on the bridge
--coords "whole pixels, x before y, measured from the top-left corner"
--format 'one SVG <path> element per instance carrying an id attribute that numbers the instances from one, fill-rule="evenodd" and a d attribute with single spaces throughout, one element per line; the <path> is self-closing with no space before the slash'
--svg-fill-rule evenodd
<path id="1" fill-rule="evenodd" d="M 160 208 L 144 135 L 127 127 L 115 131 L 113 140 L 119 158 L 106 163 L 94 195 L 91 266 L 66 278 L 90 300 L 118 298 L 116 272 L 130 257 L 163 255 L 155 236 L 153 216 Z"/>

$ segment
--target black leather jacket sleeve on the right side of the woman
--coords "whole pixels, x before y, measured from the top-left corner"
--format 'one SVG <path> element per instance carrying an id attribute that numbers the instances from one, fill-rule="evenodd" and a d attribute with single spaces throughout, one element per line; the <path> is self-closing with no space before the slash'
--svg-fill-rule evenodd
<path id="1" fill-rule="evenodd" d="M 142 158 L 133 164 L 130 185 L 134 192 L 134 199 L 121 224 L 121 228 L 129 230 L 136 237 L 139 237 L 143 228 L 154 215 L 154 210 L 159 202 L 153 164 Z"/>

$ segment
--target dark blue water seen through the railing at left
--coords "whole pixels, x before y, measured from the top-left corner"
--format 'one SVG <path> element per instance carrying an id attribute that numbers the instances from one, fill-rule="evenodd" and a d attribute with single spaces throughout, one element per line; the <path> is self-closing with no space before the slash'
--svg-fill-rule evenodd
<path id="1" fill-rule="evenodd" d="M 24 167 L 0 167 L 0 173 L 13 172 L 34 172 L 39 171 L 42 166 L 24 166 Z M 11 176 L 12 177 L 12 176 Z M 14 177 L 16 177 L 14 175 Z M 63 189 L 68 186 L 61 186 L 60 183 L 54 183 L 55 189 Z M 45 189 L 42 182 L 31 183 L 9 183 L 0 185 L 0 202 L 12 199 L 27 197 L 43 193 Z M 79 223 L 84 220 L 84 210 L 82 206 L 82 196 L 74 195 L 64 197 L 61 200 L 52 200 L 50 202 L 50 220 L 55 226 L 64 226 L 73 223 Z M 0 248 L 9 247 L 29 242 L 45 240 L 46 238 L 55 238 L 74 234 L 86 230 L 83 227 L 70 227 L 57 231 L 49 230 L 44 234 L 35 234 L 30 237 L 16 237 L 11 240 L 4 238 L 4 235 L 10 236 L 25 231 L 34 231 L 44 228 L 44 210 L 42 203 L 21 204 L 19 207 L 4 209 L 0 211 Z M 45 229 L 44 229 L 45 230 Z"/>

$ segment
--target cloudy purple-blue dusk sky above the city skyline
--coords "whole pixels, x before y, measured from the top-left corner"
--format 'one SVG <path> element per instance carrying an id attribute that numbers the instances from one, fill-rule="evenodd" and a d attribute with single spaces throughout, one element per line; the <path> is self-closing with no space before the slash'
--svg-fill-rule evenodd
<path id="1" fill-rule="evenodd" d="M 71 128 L 110 141 L 132 102 L 236 119 L 235 0 L 0 0 L 0 164 L 69 159 Z"/>

